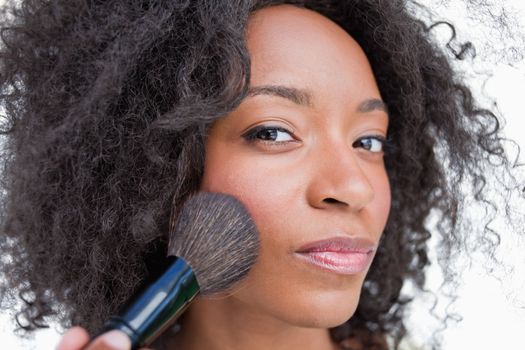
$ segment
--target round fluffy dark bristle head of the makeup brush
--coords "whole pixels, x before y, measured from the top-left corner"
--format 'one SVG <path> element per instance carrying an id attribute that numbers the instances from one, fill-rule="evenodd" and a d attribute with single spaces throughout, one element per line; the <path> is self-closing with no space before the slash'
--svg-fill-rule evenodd
<path id="1" fill-rule="evenodd" d="M 203 295 L 225 292 L 240 282 L 258 250 L 255 223 L 229 195 L 199 192 L 171 223 L 168 253 L 189 263 Z"/>

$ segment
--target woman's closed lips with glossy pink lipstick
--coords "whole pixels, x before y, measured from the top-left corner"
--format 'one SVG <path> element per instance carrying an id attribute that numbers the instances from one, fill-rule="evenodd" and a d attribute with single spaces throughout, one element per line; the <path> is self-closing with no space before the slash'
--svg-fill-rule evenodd
<path id="1" fill-rule="evenodd" d="M 307 243 L 295 255 L 316 267 L 342 275 L 365 271 L 377 245 L 360 237 L 333 237 Z"/>

